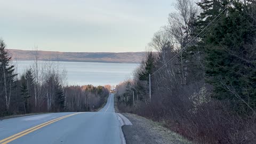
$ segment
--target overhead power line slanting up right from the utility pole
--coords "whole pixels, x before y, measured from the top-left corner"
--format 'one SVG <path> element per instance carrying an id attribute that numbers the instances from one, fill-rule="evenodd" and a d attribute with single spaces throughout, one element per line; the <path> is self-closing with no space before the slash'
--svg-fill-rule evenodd
<path id="1" fill-rule="evenodd" d="M 234 1 L 234 0 L 233 0 L 233 1 Z M 231 1 L 230 3 L 232 3 L 233 1 Z M 201 33 L 203 33 L 203 31 L 204 31 L 207 27 L 209 27 L 209 26 L 213 23 L 213 21 L 216 20 L 216 19 L 220 16 L 220 14 L 222 14 L 227 8 L 228 8 L 228 5 L 227 5 L 226 8 L 225 8 L 224 10 L 222 10 L 222 11 L 217 15 L 217 17 L 215 17 L 203 30 L 201 30 L 199 34 L 197 34 L 193 39 L 191 39 L 191 41 L 190 41 L 186 46 L 184 46 L 184 47 L 183 47 L 178 53 L 176 53 L 169 61 L 167 61 L 166 63 L 164 63 L 164 65 L 163 65 L 162 67 L 158 68 L 158 69 L 157 69 L 154 73 L 152 73 L 151 75 L 154 75 L 155 73 L 157 73 L 157 71 L 161 70 L 167 63 L 169 63 L 169 62 L 172 61 L 175 57 L 177 57 L 178 54 L 180 54 L 181 52 L 187 50 L 187 46 L 188 46 L 191 42 L 193 42 Z M 209 28 L 209 29 L 210 29 L 210 28 Z M 204 34 L 205 34 L 205 33 L 204 33 Z"/>

